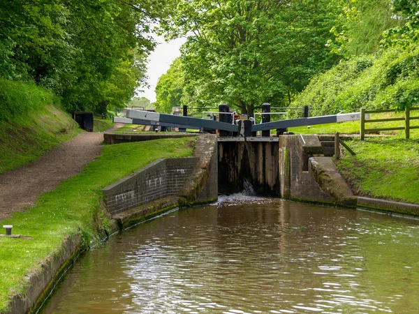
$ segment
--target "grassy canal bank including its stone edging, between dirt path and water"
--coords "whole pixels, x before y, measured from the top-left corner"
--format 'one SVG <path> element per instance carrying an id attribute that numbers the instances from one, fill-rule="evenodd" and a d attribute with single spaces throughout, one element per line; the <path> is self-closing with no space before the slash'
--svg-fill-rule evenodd
<path id="1" fill-rule="evenodd" d="M 46 296 L 54 285 L 50 280 L 64 271 L 62 262 L 71 264 L 77 251 L 100 241 L 101 230 L 110 226 L 101 214 L 102 188 L 158 158 L 191 156 L 194 143 L 192 137 L 105 146 L 82 174 L 38 197 L 36 206 L 2 220 L 13 225 L 13 234 L 29 239 L 0 237 L 0 313 L 33 311 L 38 292 Z M 66 253 L 70 246 L 75 250 Z"/>

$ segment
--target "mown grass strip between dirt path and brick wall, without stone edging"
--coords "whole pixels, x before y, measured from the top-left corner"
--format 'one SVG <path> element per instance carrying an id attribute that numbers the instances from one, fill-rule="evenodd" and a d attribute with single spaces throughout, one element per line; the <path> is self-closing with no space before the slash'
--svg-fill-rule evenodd
<path id="1" fill-rule="evenodd" d="M 68 235 L 82 233 L 89 244 L 96 234 L 101 189 L 159 158 L 192 155 L 195 137 L 135 142 L 103 147 L 98 160 L 82 174 L 59 184 L 38 197 L 36 206 L 17 212 L 3 225 L 13 225 L 13 233 L 33 239 L 0 237 L 0 313 L 8 308 L 8 297 L 23 293 L 25 276 L 37 271 L 39 263 L 59 253 Z"/>

